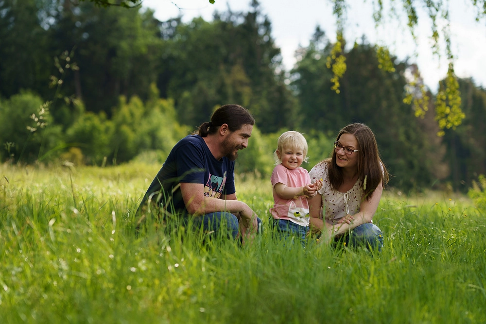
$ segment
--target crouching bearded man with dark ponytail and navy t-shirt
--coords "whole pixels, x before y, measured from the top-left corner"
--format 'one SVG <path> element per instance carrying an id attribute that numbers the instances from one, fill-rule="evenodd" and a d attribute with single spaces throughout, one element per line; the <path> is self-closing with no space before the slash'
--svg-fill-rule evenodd
<path id="1" fill-rule="evenodd" d="M 218 232 L 226 223 L 237 238 L 255 233 L 257 214 L 236 198 L 234 181 L 238 151 L 248 146 L 255 119 L 242 106 L 218 108 L 196 134 L 181 139 L 172 149 L 140 203 L 138 223 L 158 208 L 163 215 L 192 218 L 206 231 Z"/>

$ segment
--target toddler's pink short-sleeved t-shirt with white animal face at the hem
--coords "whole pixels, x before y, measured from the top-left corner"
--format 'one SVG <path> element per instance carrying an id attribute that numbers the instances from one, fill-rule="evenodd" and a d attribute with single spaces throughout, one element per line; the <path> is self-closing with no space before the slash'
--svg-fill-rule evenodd
<path id="1" fill-rule="evenodd" d="M 289 170 L 282 164 L 275 167 L 270 177 L 273 188 L 274 206 L 270 208 L 270 214 L 275 219 L 289 220 L 301 226 L 309 226 L 309 203 L 305 196 L 294 199 L 282 199 L 275 191 L 275 185 L 282 183 L 287 187 L 304 187 L 311 183 L 309 172 L 302 167 Z"/>

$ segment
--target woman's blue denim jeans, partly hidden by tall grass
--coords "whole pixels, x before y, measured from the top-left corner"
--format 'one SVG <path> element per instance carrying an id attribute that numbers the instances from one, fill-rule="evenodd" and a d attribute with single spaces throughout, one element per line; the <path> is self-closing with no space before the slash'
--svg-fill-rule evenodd
<path id="1" fill-rule="evenodd" d="M 371 251 L 378 249 L 380 252 L 383 247 L 383 234 L 375 224 L 365 223 L 334 239 L 335 246 L 345 243 L 346 246 L 364 246 Z"/>

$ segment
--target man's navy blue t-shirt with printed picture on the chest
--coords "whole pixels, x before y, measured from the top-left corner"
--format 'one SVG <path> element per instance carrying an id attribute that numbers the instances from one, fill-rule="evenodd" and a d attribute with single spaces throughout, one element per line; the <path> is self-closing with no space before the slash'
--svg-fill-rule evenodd
<path id="1" fill-rule="evenodd" d="M 167 211 L 187 213 L 179 183 L 204 185 L 204 195 L 220 198 L 236 192 L 235 162 L 223 157 L 218 161 L 209 151 L 203 137 L 188 135 L 172 149 L 157 176 L 149 186 L 140 207 L 151 201 Z M 139 207 L 139 208 L 140 208 Z"/>

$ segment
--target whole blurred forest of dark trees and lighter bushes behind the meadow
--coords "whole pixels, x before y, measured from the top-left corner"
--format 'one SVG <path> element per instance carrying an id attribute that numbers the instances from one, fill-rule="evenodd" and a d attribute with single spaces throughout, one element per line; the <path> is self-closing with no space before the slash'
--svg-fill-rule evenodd
<path id="1" fill-rule="evenodd" d="M 140 7 L 0 0 L 0 161 L 161 165 L 215 108 L 238 103 L 257 121 L 240 173 L 268 177 L 286 130 L 306 136 L 310 169 L 328 156 L 339 129 L 363 122 L 392 188 L 466 192 L 486 174 L 484 88 L 458 80 L 465 118 L 438 136 L 434 101 L 416 117 L 404 100 L 419 96 L 407 80 L 419 75 L 414 62 L 392 55 L 393 67 L 380 68 L 381 48 L 363 37 L 344 52 L 337 93 L 326 59 L 335 44 L 319 26 L 309 39 L 288 71 L 257 1 L 248 12 L 184 23 Z"/>

